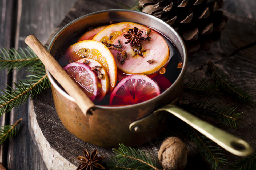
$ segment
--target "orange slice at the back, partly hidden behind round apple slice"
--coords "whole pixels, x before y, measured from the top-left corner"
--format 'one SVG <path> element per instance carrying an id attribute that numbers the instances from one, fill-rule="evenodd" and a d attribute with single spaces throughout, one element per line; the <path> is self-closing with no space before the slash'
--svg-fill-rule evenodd
<path id="1" fill-rule="evenodd" d="M 121 35 L 123 32 L 128 31 L 130 28 L 137 27 L 139 30 L 140 29 L 148 29 L 148 27 L 137 24 L 134 22 L 119 22 L 115 24 L 111 24 L 107 26 L 106 28 L 102 29 L 99 33 L 97 33 L 94 37 L 93 40 L 99 41 L 99 42 L 105 42 L 107 41 L 108 43 L 112 44 L 113 41 Z M 109 40 L 110 36 L 113 36 L 111 40 Z"/>

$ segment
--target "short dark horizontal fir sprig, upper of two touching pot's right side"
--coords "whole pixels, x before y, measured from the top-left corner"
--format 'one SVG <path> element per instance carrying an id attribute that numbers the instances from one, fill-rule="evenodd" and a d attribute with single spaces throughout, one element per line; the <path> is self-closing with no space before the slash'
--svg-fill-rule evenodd
<path id="1" fill-rule="evenodd" d="M 190 79 L 187 83 L 184 83 L 184 91 L 204 96 L 221 96 L 223 93 L 215 83 L 209 83 L 208 80 L 199 81 L 199 79 Z"/>

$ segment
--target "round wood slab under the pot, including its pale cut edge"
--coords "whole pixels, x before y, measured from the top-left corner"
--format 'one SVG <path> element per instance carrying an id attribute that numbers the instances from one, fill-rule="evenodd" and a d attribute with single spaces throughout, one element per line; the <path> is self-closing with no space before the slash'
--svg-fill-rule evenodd
<path id="1" fill-rule="evenodd" d="M 120 1 L 121 3 L 124 3 Z M 90 3 L 88 5 L 88 3 Z M 109 5 L 102 3 L 94 9 L 95 2 L 79 0 L 76 2 L 66 18 L 61 22 L 59 28 L 56 28 L 48 39 L 48 44 L 57 31 L 70 21 L 79 16 L 93 12 L 92 10 L 103 10 L 117 7 L 117 3 L 111 2 Z M 129 2 L 131 3 L 131 2 Z M 86 9 L 85 9 L 86 7 Z M 93 9 L 89 8 L 93 7 Z M 219 41 L 214 43 L 209 51 L 201 51 L 198 54 L 188 58 L 188 68 L 185 75 L 185 82 L 189 79 L 205 79 L 205 71 L 209 59 L 215 63 L 223 72 L 231 78 L 231 82 L 243 90 L 250 91 L 256 97 L 256 22 L 253 19 L 238 17 L 224 11 L 229 18 L 222 31 Z M 194 99 L 193 95 L 184 93 L 187 99 Z M 246 140 L 254 148 L 256 146 L 256 106 L 245 105 L 233 100 L 231 97 L 220 97 L 216 99 L 220 106 L 230 104 L 236 106 L 238 112 L 245 112 L 237 121 L 238 129 L 229 128 L 223 124 L 212 120 L 209 117 L 202 117 L 206 121 L 218 126 L 226 131 Z M 255 99 L 254 99 L 255 102 Z M 73 134 L 71 134 L 59 120 L 51 94 L 51 89 L 43 91 L 34 97 L 30 102 L 30 133 L 34 136 L 43 160 L 48 169 L 76 169 L 79 162 L 77 156 L 83 155 L 83 149 L 90 153 L 98 149 L 98 156 L 105 156 L 102 165 L 106 167 L 106 163 L 114 156 L 112 148 L 103 148 L 86 143 Z M 199 115 L 200 116 L 200 115 Z M 170 124 L 171 135 L 175 135 L 186 142 L 189 147 L 188 163 L 185 169 L 211 169 L 211 165 L 205 162 L 197 150 L 195 144 L 190 142 L 186 132 L 183 131 L 182 122 L 175 119 L 175 124 Z M 162 168 L 158 162 L 157 154 L 161 141 L 170 134 L 163 134 L 159 138 L 138 146 L 137 148 L 149 153 L 151 158 L 156 160 L 157 167 Z M 234 156 L 225 150 L 223 153 L 227 155 L 229 165 L 236 163 L 240 157 Z M 107 169 L 107 168 L 106 168 Z"/>

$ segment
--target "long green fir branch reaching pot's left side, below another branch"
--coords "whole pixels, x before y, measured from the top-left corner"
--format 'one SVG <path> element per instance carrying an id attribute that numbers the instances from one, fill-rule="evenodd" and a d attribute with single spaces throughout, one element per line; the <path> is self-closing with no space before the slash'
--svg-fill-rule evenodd
<path id="1" fill-rule="evenodd" d="M 29 96 L 33 98 L 36 94 L 50 87 L 50 82 L 42 63 L 31 66 L 27 71 L 32 73 L 27 76 L 29 79 L 19 80 L 20 84 L 13 82 L 15 90 L 8 85 L 10 89 L 6 88 L 6 91 L 1 90 L 4 94 L 0 96 L 0 116 L 4 112 L 11 111 L 12 108 L 26 103 Z"/>

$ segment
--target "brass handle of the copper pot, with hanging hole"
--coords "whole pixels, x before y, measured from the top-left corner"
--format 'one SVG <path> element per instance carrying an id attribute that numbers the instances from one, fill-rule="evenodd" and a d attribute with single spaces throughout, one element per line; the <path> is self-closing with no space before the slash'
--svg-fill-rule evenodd
<path id="1" fill-rule="evenodd" d="M 202 133 L 203 135 L 205 135 L 206 137 L 208 137 L 209 139 L 211 139 L 212 141 L 214 141 L 219 146 L 221 146 L 222 148 L 224 148 L 225 150 L 229 151 L 232 154 L 238 156 L 249 156 L 253 153 L 253 148 L 246 141 L 239 139 L 238 137 L 235 137 L 234 135 L 231 135 L 224 130 L 219 129 L 172 104 L 164 105 L 158 108 L 156 111 L 154 111 L 150 116 L 131 123 L 129 126 L 130 130 L 133 132 L 142 132 L 155 128 L 157 124 L 159 124 L 160 122 L 160 117 L 163 116 L 159 115 L 159 113 L 161 113 L 159 111 L 167 111 L 173 114 L 174 116 L 180 118 L 181 120 L 195 128 L 200 133 Z M 156 123 L 155 126 L 152 126 L 152 122 L 148 120 L 149 118 L 151 120 L 155 120 L 155 122 L 153 122 L 153 124 Z M 146 122 L 149 122 L 148 125 L 151 124 L 151 126 L 147 126 Z M 245 149 L 237 150 L 232 146 L 234 144 L 243 145 Z"/>

